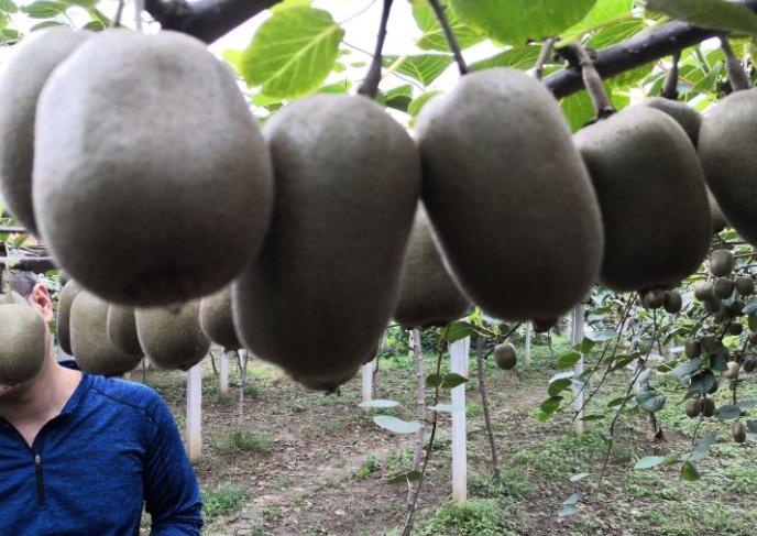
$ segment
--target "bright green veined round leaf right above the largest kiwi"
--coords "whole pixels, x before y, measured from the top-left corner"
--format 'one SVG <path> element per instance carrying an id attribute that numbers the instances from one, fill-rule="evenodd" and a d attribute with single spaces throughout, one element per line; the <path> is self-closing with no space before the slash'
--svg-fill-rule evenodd
<path id="1" fill-rule="evenodd" d="M 328 11 L 306 6 L 276 10 L 242 53 L 240 74 L 270 97 L 306 95 L 331 72 L 343 36 Z"/>

